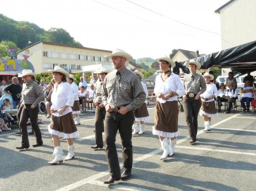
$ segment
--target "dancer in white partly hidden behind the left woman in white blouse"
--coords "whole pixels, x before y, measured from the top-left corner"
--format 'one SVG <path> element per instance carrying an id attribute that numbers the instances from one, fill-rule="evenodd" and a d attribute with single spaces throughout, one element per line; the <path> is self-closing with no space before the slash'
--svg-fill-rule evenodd
<path id="1" fill-rule="evenodd" d="M 73 96 L 74 96 L 74 106 L 72 107 L 72 114 L 74 114 L 74 124 L 75 125 L 80 125 L 80 119 L 79 119 L 79 114 L 81 113 L 80 111 L 80 104 L 79 104 L 79 97 L 78 97 L 78 87 L 74 83 L 75 77 L 72 74 L 69 74 L 69 81 L 68 83 L 71 85 L 72 90 L 73 90 Z"/>

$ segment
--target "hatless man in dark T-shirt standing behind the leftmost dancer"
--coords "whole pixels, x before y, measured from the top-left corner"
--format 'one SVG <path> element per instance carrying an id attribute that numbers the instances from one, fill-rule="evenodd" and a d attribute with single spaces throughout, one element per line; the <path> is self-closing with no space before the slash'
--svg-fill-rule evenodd
<path id="1" fill-rule="evenodd" d="M 17 108 L 17 105 L 20 104 L 20 93 L 21 93 L 21 85 L 19 84 L 18 77 L 13 77 L 13 83 L 7 86 L 4 89 L 6 94 L 9 94 L 13 97 L 13 109 Z"/>

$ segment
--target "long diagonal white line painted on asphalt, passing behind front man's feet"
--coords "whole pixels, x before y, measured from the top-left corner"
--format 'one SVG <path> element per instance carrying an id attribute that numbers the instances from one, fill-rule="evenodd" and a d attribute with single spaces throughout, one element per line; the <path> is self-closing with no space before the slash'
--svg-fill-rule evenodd
<path id="1" fill-rule="evenodd" d="M 217 122 L 216 124 L 212 125 L 212 127 L 216 127 L 217 125 L 222 124 L 223 122 L 229 121 L 230 119 L 232 119 L 232 118 L 234 118 L 234 117 L 236 117 L 236 116 L 238 116 L 238 115 L 240 115 L 240 114 L 243 114 L 243 112 L 241 112 L 241 113 L 239 113 L 239 114 L 232 115 L 232 116 L 230 116 L 230 117 L 228 117 L 228 118 L 226 118 L 226 119 L 224 119 L 224 120 L 222 120 L 222 121 L 219 121 L 219 122 Z M 201 131 L 199 131 L 199 132 L 197 133 L 197 135 L 198 135 L 198 134 L 202 134 L 202 133 L 204 133 L 204 131 L 201 130 Z M 190 138 L 190 137 L 187 136 L 187 137 L 184 137 L 184 138 L 181 139 L 181 140 L 177 140 L 177 144 L 180 144 L 180 143 L 182 143 L 183 141 L 188 140 L 189 138 Z M 191 148 L 196 148 L 196 147 L 191 147 Z M 222 150 L 220 150 L 220 152 L 221 152 L 221 151 L 222 151 Z M 135 163 L 137 163 L 137 162 L 140 162 L 141 160 L 147 159 L 147 158 L 149 158 L 149 157 L 151 157 L 151 156 L 153 156 L 153 155 L 155 155 L 155 154 L 158 154 L 158 153 L 160 153 L 160 152 L 162 152 L 162 149 L 157 149 L 157 150 L 155 150 L 155 151 L 153 151 L 153 152 L 151 152 L 151 153 L 142 155 L 141 157 L 138 157 L 137 159 L 134 159 L 134 160 L 133 160 L 133 164 L 135 164 Z M 239 152 L 238 152 L 238 153 L 239 153 Z M 122 165 L 120 165 L 120 166 L 122 166 Z M 73 183 L 73 184 L 71 184 L 71 185 L 64 186 L 64 187 L 62 187 L 62 188 L 60 188 L 60 189 L 58 189 L 58 190 L 56 190 L 56 191 L 70 191 L 70 190 L 72 190 L 72 189 L 74 189 L 74 188 L 77 188 L 77 187 L 79 187 L 79 186 L 81 186 L 81 185 L 85 185 L 85 184 L 91 183 L 91 182 L 95 181 L 96 179 L 102 178 L 102 177 L 107 176 L 107 175 L 109 175 L 109 172 L 108 172 L 108 171 L 100 172 L 100 173 L 98 173 L 98 174 L 94 174 L 94 175 L 91 176 L 91 177 L 84 178 L 84 179 L 82 179 L 82 180 L 80 180 L 80 181 L 78 181 L 78 182 L 75 182 L 75 183 Z"/>

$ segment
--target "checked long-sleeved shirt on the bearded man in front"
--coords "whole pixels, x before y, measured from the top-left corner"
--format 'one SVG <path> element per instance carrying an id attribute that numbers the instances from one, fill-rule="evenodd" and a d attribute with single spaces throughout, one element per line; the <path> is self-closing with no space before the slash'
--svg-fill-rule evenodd
<path id="1" fill-rule="evenodd" d="M 126 106 L 128 111 L 139 108 L 146 100 L 146 94 L 137 75 L 126 67 L 114 70 L 102 85 L 102 102 L 111 108 Z"/>

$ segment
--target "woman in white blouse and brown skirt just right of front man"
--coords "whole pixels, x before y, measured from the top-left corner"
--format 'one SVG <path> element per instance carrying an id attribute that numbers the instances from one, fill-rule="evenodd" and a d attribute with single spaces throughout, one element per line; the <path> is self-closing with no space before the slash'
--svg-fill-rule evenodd
<path id="1" fill-rule="evenodd" d="M 163 147 L 160 159 L 166 159 L 173 155 L 176 137 L 180 134 L 178 131 L 178 97 L 185 94 L 185 89 L 180 77 L 170 70 L 175 67 L 172 59 L 164 56 L 157 58 L 156 61 L 159 62 L 163 73 L 155 78 L 154 92 L 157 98 L 153 134 L 158 135 Z"/>

